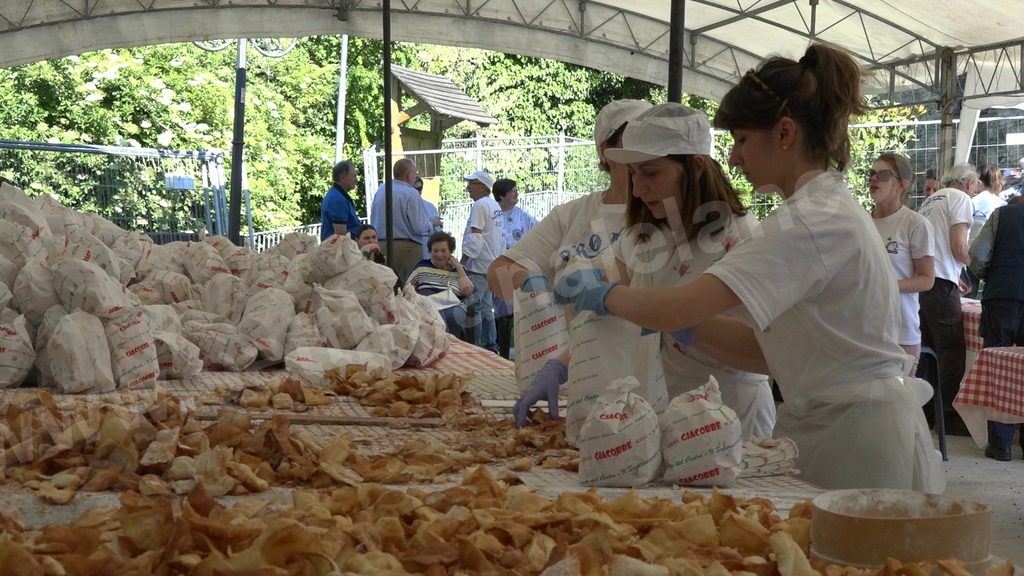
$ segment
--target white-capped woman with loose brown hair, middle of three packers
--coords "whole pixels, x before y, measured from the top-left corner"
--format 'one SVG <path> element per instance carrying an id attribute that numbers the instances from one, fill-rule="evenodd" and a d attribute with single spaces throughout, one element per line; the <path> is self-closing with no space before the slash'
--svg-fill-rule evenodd
<path id="1" fill-rule="evenodd" d="M 630 122 L 622 148 L 605 153 L 628 164 L 633 175 L 627 229 L 615 244 L 620 272 L 630 286 L 689 284 L 756 233 L 757 220 L 745 213 L 711 153 L 708 117 L 672 102 Z M 688 345 L 688 331 L 676 336 L 662 335 L 669 398 L 714 375 L 723 401 L 742 422 L 743 437 L 770 438 L 775 403 L 768 377 L 724 366 Z"/>

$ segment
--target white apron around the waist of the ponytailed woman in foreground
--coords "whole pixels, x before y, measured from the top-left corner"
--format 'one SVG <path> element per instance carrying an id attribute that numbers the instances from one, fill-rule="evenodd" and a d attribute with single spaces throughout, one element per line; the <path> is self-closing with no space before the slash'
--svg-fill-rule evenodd
<path id="1" fill-rule="evenodd" d="M 921 410 L 930 396 L 916 378 L 833 385 L 806 400 L 787 398 L 775 436 L 797 443 L 801 478 L 821 488 L 941 493 L 942 457 Z"/>

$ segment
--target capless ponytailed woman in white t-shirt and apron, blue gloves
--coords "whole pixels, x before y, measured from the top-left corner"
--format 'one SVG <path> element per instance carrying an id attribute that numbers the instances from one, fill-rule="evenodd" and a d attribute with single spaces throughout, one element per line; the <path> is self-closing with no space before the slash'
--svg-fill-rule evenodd
<path id="1" fill-rule="evenodd" d="M 775 436 L 796 441 L 809 482 L 941 491 L 921 410 L 930 387 L 902 377 L 896 279 L 843 180 L 860 78 L 848 54 L 821 44 L 748 72 L 715 124 L 732 134 L 730 164 L 784 199 L 757 237 L 684 286 L 629 288 L 581 272 L 555 295 L 650 329 L 693 326 L 701 349 L 772 374 L 785 400 Z M 721 316 L 737 306 L 754 329 Z"/>

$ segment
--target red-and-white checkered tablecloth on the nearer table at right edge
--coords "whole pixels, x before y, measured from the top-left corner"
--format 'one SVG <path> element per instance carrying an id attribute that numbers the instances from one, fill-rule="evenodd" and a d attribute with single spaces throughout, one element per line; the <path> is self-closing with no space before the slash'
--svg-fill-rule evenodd
<path id="1" fill-rule="evenodd" d="M 983 348 L 953 407 L 979 447 L 986 443 L 987 420 L 1024 422 L 1024 346 Z"/>

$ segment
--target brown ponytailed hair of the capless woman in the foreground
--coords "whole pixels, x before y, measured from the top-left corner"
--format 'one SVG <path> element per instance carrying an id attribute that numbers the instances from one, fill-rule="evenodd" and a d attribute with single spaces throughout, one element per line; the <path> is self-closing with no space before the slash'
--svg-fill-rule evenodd
<path id="1" fill-rule="evenodd" d="M 812 44 L 800 60 L 776 56 L 750 70 L 722 98 L 715 127 L 770 129 L 784 116 L 804 135 L 804 152 L 827 168 L 850 165 L 850 117 L 863 114 L 863 72 L 849 54 Z"/>

